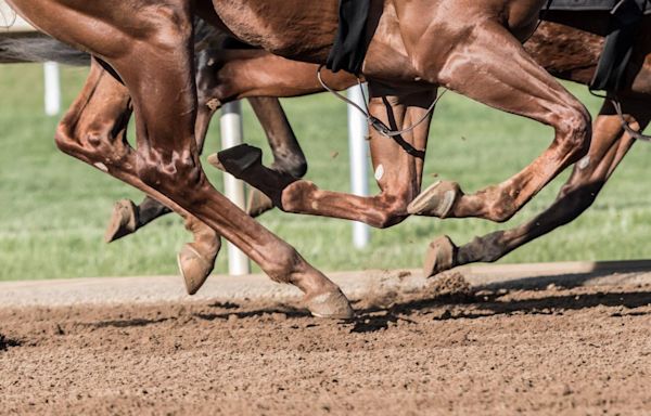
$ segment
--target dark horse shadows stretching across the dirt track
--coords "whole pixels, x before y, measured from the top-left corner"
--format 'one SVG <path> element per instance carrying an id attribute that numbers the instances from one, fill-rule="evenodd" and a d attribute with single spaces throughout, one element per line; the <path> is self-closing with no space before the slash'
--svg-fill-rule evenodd
<path id="1" fill-rule="evenodd" d="M 565 311 L 590 309 L 597 307 L 617 308 L 611 311 L 611 316 L 643 316 L 651 311 L 635 309 L 651 306 L 651 291 L 617 291 L 577 294 L 559 290 L 558 295 L 536 298 L 512 299 L 512 291 L 505 289 L 490 291 L 469 291 L 432 296 L 432 294 L 400 294 L 386 302 L 378 298 L 378 302 L 369 299 L 354 303 L 357 311 L 355 318 L 343 321 L 352 325 L 352 333 L 374 333 L 388 328 L 392 324 L 416 324 L 425 320 L 476 320 L 497 315 L 562 315 Z M 251 306 L 253 307 L 253 306 Z M 184 316 L 184 317 L 183 317 Z M 188 311 L 174 317 L 113 320 L 92 324 L 94 327 L 139 327 L 156 325 L 166 321 L 183 320 L 188 316 L 204 321 L 237 321 L 256 318 L 260 322 L 289 321 L 310 317 L 304 309 L 291 304 L 269 304 L 260 308 L 246 309 L 246 303 L 213 302 L 200 310 Z M 0 338 L 0 351 L 13 347 L 12 340 Z M 20 344 L 20 343 L 16 343 Z"/>

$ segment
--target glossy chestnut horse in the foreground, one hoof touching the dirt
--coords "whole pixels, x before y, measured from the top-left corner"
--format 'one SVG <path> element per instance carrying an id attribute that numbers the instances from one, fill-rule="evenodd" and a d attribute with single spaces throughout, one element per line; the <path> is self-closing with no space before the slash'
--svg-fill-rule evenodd
<path id="1" fill-rule="evenodd" d="M 105 162 L 87 161 L 191 220 L 201 218 L 272 278 L 298 286 L 312 313 L 350 315 L 349 304 L 332 282 L 210 186 L 201 169 L 194 140 L 196 93 L 191 40 L 195 10 L 247 43 L 299 61 L 323 63 L 336 30 L 336 1 L 295 0 L 284 2 L 283 8 L 270 0 L 215 0 L 212 4 L 189 0 L 10 3 L 43 31 L 102 58 L 129 89 L 138 115 L 138 151 L 123 152 L 105 158 Z M 429 118 L 427 107 L 442 86 L 556 130 L 551 146 L 512 179 L 473 195 L 458 188 L 429 192 L 426 198 L 419 199 L 430 202 L 420 213 L 501 220 L 587 152 L 589 114 L 521 46 L 535 28 L 544 3 L 372 3 L 369 53 L 362 70 L 370 84 L 371 113 L 384 125 L 400 129 L 423 116 Z M 426 129 L 427 125 L 429 120 L 418 129 Z M 60 134 L 64 131 L 61 129 Z M 94 138 L 89 139 L 82 147 L 92 147 Z M 309 182 L 267 170 L 256 152 L 230 152 L 220 159 L 245 179 L 273 172 L 254 182 L 283 209 L 387 225 L 407 216 L 403 202 L 413 199 L 420 187 L 424 143 L 412 139 L 408 132 L 395 141 L 371 140 L 376 169 L 386 166 L 380 178 L 383 191 L 401 195 L 400 204 L 382 195 L 355 199 L 319 191 Z M 417 152 L 403 152 L 406 145 Z"/>

